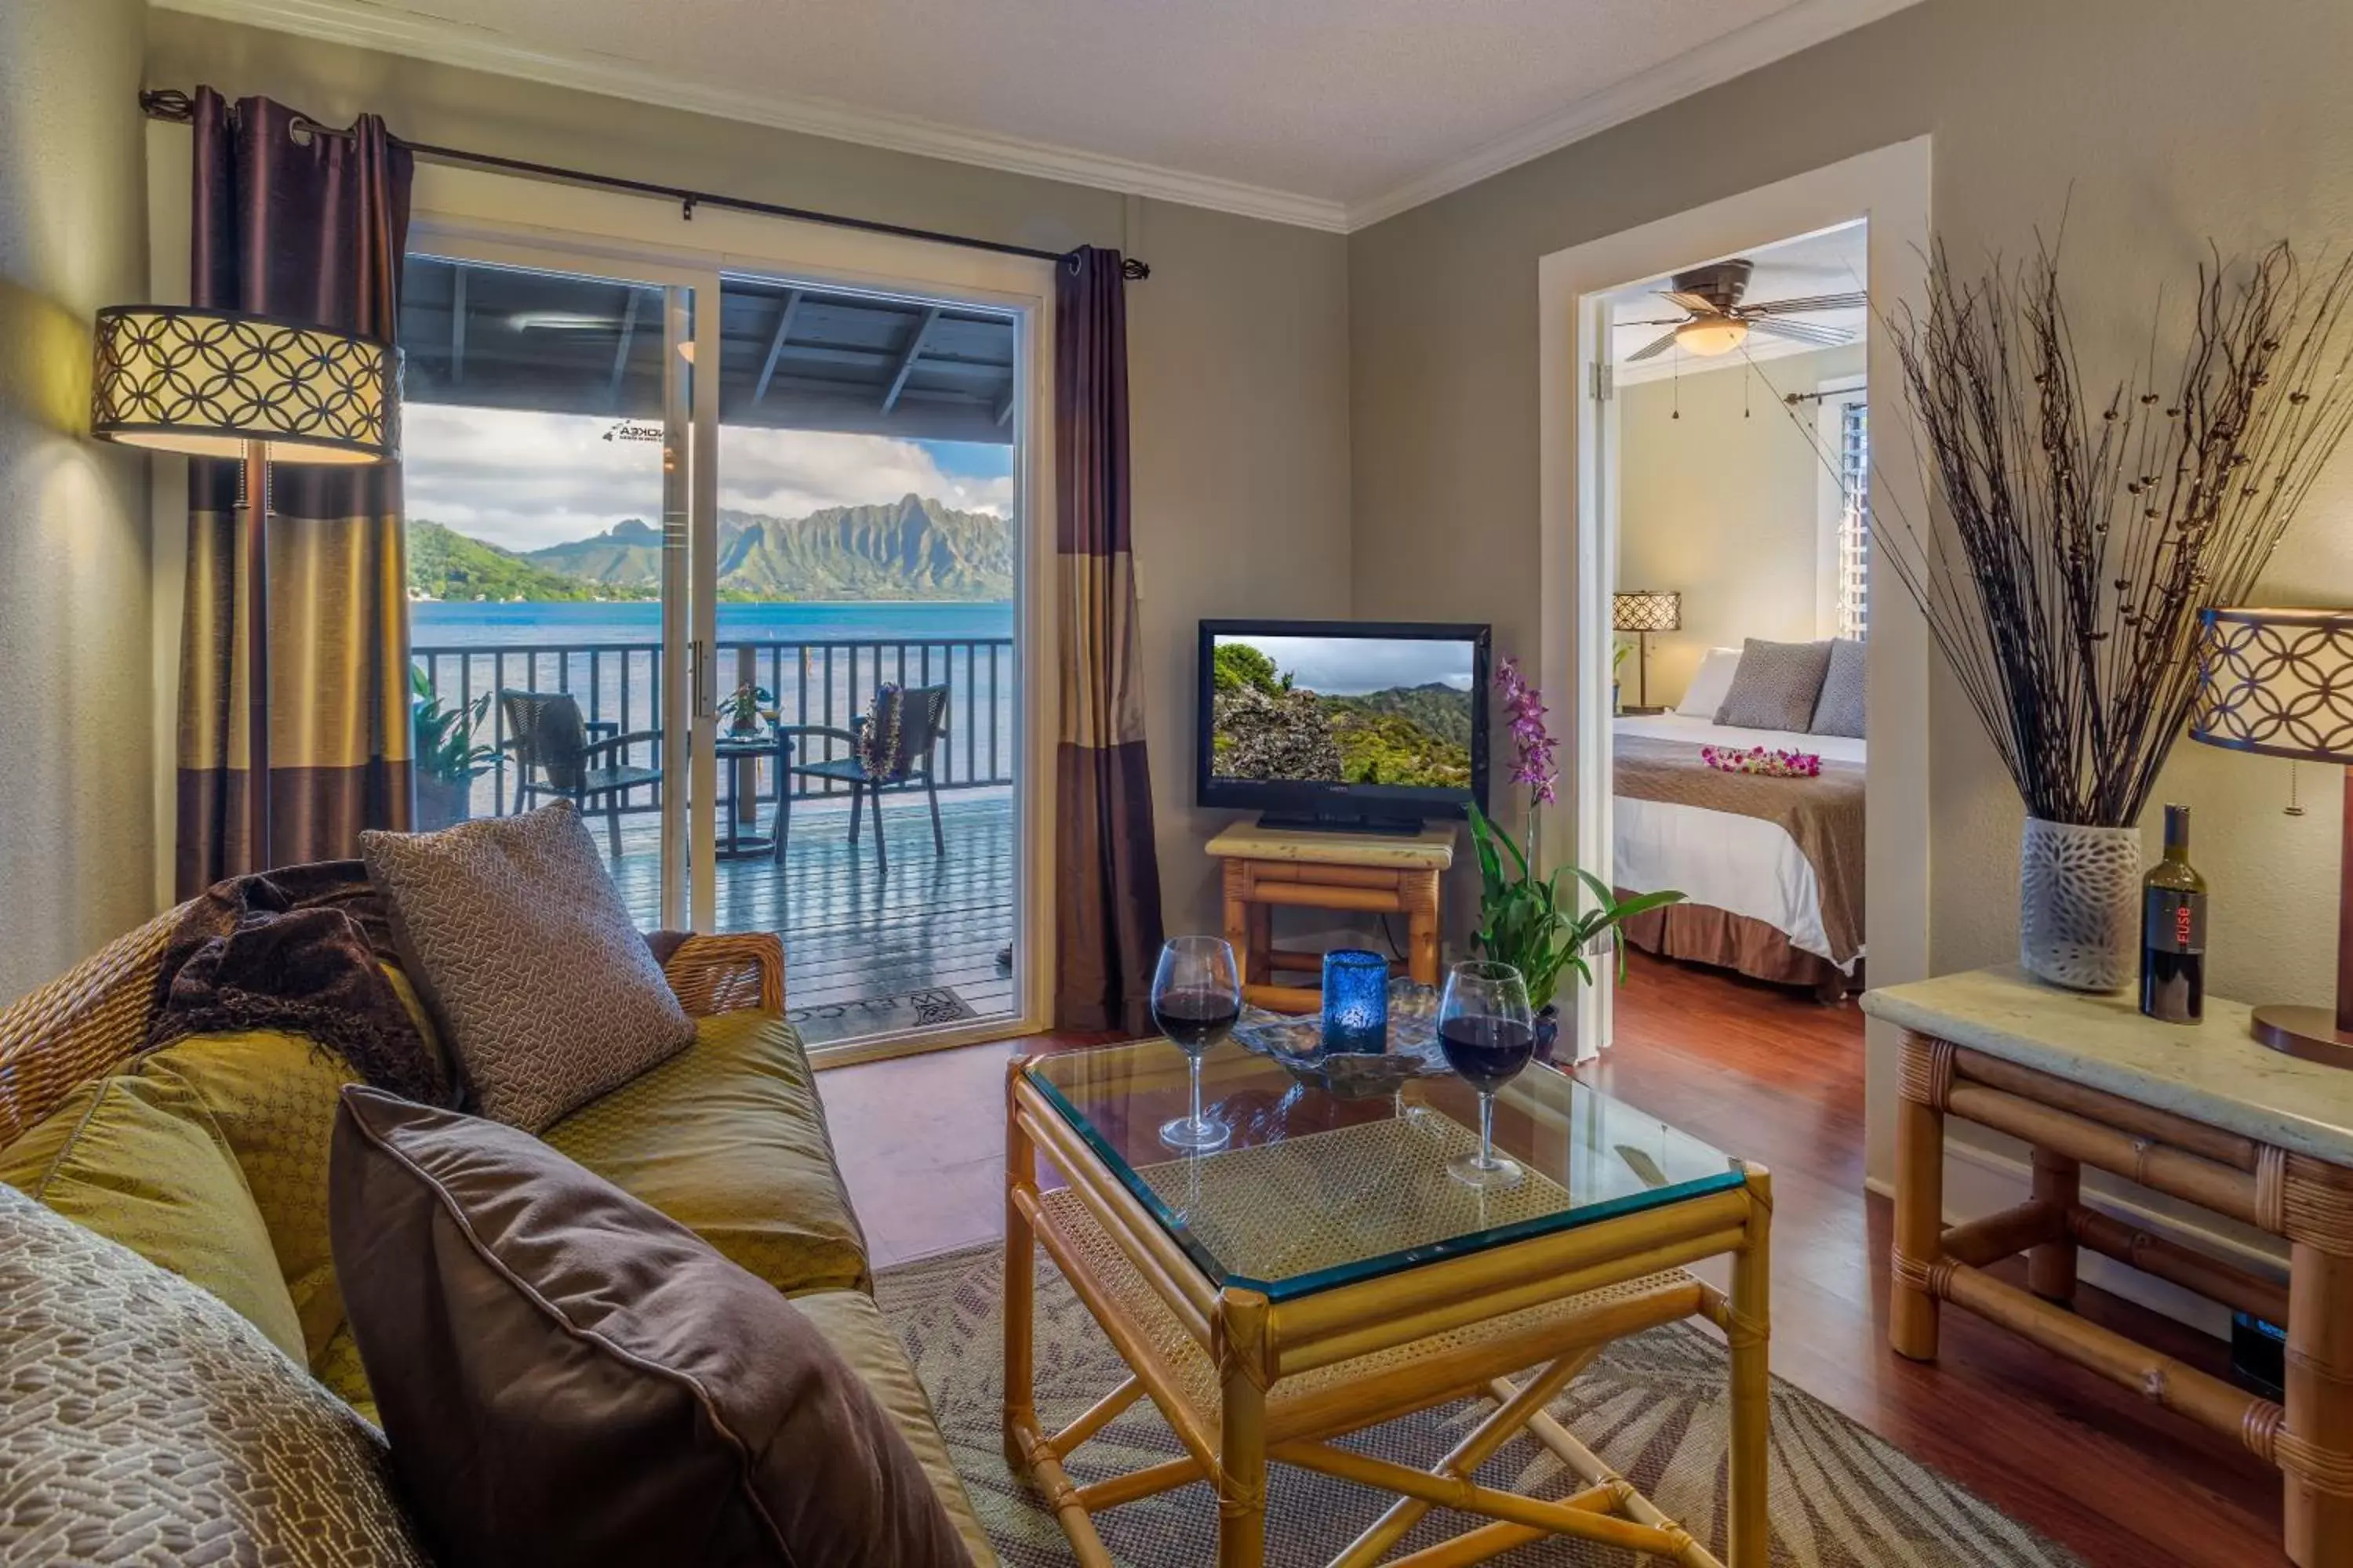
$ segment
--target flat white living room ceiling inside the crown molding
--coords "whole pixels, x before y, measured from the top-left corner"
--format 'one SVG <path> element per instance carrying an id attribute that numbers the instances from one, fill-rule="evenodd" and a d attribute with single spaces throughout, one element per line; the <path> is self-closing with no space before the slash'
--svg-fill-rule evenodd
<path id="1" fill-rule="evenodd" d="M 1913 0 L 158 0 L 1358 228 Z"/>

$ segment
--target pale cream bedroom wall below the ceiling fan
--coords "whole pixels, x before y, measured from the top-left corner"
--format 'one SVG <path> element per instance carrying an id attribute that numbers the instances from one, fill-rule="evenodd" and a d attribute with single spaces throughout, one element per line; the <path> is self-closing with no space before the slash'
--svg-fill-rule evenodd
<path id="1" fill-rule="evenodd" d="M 1619 386 L 1617 585 L 1682 595 L 1682 630 L 1649 639 L 1652 705 L 1680 703 L 1708 649 L 1828 635 L 1814 404 L 1781 395 L 1861 369 L 1857 346 Z M 1635 654 L 1621 679 L 1633 705 Z"/>

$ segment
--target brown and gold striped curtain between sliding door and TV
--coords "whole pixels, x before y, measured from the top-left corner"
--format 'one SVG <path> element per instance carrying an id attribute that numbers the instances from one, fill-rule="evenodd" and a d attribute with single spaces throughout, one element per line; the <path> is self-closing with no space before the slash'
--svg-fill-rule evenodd
<path id="1" fill-rule="evenodd" d="M 1127 501 L 1127 282 L 1080 249 L 1054 289 L 1054 510 L 1061 745 L 1054 755 L 1054 1025 L 1151 1027 L 1160 856 Z"/>

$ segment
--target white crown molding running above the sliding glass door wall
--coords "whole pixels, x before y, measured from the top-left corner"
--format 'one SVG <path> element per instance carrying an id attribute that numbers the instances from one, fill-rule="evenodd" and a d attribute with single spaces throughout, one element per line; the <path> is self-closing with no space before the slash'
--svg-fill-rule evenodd
<path id="1" fill-rule="evenodd" d="M 1346 230 L 1346 207 L 1313 195 L 1271 190 L 1209 174 L 1188 174 L 1125 158 L 1104 158 L 1019 136 L 993 136 L 915 115 L 852 108 L 828 99 L 706 87 L 621 59 L 532 49 L 489 28 L 369 5 L 367 0 L 155 0 L 155 5 L 214 21 L 240 21 L 278 33 L 426 59 L 440 66 L 487 71 L 548 87 L 574 87 L 614 99 L 715 115 L 720 120 L 767 125 L 805 136 L 854 141 L 920 158 L 944 158 L 1007 174 L 1031 174 L 1096 190 L 1146 195 L 1186 207 L 1231 212 L 1245 219 L 1320 228 L 1325 233 Z"/>

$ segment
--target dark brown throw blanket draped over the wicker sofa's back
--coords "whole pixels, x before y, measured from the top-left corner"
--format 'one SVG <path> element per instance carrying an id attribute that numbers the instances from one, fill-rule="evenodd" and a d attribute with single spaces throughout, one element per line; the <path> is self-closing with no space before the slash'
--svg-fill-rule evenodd
<path id="1" fill-rule="evenodd" d="M 282 1030 L 334 1051 L 369 1086 L 449 1105 L 449 1084 L 379 969 L 391 922 L 358 860 L 214 882 L 165 947 L 148 1048 L 188 1034 Z"/>

